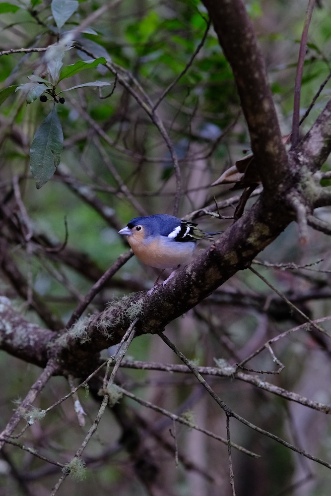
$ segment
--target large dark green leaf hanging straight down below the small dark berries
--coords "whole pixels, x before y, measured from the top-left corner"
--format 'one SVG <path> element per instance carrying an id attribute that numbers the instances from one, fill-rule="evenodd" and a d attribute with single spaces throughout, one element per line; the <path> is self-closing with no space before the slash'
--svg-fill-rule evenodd
<path id="1" fill-rule="evenodd" d="M 60 163 L 62 148 L 63 131 L 54 106 L 37 129 L 30 148 L 30 169 L 37 189 L 44 186 L 55 173 Z"/>

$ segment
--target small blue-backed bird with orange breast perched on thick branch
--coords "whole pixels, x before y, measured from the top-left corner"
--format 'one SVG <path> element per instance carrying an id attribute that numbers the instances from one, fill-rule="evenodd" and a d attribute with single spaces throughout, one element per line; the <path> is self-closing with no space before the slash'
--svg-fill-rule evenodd
<path id="1" fill-rule="evenodd" d="M 127 236 L 133 253 L 141 262 L 162 269 L 162 272 L 164 269 L 175 269 L 188 262 L 199 240 L 221 233 L 222 231 L 205 233 L 194 222 L 167 214 L 135 217 L 119 231 L 119 234 Z M 162 284 L 165 285 L 175 272 L 173 271 Z M 149 294 L 157 286 L 161 274 Z"/>

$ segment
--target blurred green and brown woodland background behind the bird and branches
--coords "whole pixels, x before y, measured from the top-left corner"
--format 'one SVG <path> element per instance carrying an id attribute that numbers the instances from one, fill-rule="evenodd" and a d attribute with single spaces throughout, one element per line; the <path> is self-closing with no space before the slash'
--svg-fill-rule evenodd
<path id="1" fill-rule="evenodd" d="M 79 1 L 59 30 L 49 1 L 2 2 L 1 51 L 52 45 L 104 3 Z M 307 2 L 256 0 L 246 4 L 263 49 L 282 134 L 286 135 L 291 129 L 298 44 Z M 1 253 L 10 257 L 26 289 L 2 264 L 0 290 L 29 320 L 45 327 L 44 313 L 33 305 L 36 295 L 65 325 L 82 296 L 127 249 L 117 231 L 137 215 L 173 213 L 173 160 L 164 136 L 141 104 L 145 95 L 152 106 L 158 102 L 155 112 L 178 156 L 182 179 L 178 216 L 212 205 L 214 196 L 220 208 L 223 201 L 233 198 L 227 208 L 220 210 L 226 217 L 223 220 L 211 218 L 202 210 L 191 215 L 202 228 L 225 230 L 232 222 L 238 192 L 210 184 L 250 149 L 230 66 L 213 29 L 205 35 L 207 13 L 198 0 L 115 1 L 85 28 L 79 35 L 79 46 L 66 51 L 64 67 L 91 59 L 88 54 L 104 57 L 117 67 L 140 102 L 102 64 L 61 81 L 57 92 L 65 97 L 65 103 L 56 106 L 64 148 L 57 172 L 41 189 L 36 189 L 30 173 L 29 149 L 54 99 L 47 94 L 46 102 L 37 98 L 26 104 L 23 92 L 13 91 L 1 105 Z M 322 1 L 315 9 L 309 33 L 302 115 L 330 74 L 330 58 L 331 5 Z M 43 52 L 2 55 L 0 89 L 25 84 L 32 73 L 47 77 L 43 63 Z M 132 82 L 133 78 L 137 83 Z M 110 86 L 86 86 L 60 93 L 95 80 Z M 303 134 L 328 98 L 330 83 L 303 123 Z M 329 170 L 329 164 L 325 168 Z M 254 197 L 249 205 L 253 201 Z M 329 211 L 320 210 L 321 217 L 330 221 Z M 66 247 L 52 251 L 66 238 L 66 222 Z M 314 232 L 309 243 L 300 246 L 296 226 L 291 225 L 259 259 L 295 263 L 298 267 L 294 270 L 256 268 L 311 318 L 330 314 L 330 242 L 324 234 Z M 299 268 L 319 260 L 316 265 Z M 109 301 L 150 288 L 156 275 L 133 257 L 88 311 L 101 311 Z M 231 364 L 240 362 L 271 337 L 301 323 L 264 282 L 246 270 L 183 319 L 172 322 L 166 332 L 189 358 L 201 366 L 213 366 L 214 358 L 224 358 Z M 274 352 L 285 369 L 280 375 L 262 375 L 263 379 L 330 404 L 330 345 L 298 331 L 279 340 Z M 134 339 L 129 354 L 134 360 L 177 363 L 156 336 Z M 247 367 L 275 370 L 265 351 Z M 15 401 L 25 395 L 39 373 L 36 367 L 1 352 L 2 427 Z M 224 416 L 191 376 L 121 369 L 119 379 L 137 396 L 169 411 L 180 414 L 192 410 L 200 427 L 226 437 Z M 210 383 L 238 414 L 330 460 L 330 423 L 325 414 L 286 403 L 231 378 L 210 378 Z M 64 378 L 52 379 L 37 406 L 47 408 L 68 390 Z M 85 428 L 78 426 L 69 399 L 33 424 L 21 442 L 61 463 L 69 461 L 98 409 L 98 396 L 92 386 L 89 392 L 80 391 L 80 399 L 87 414 Z M 130 450 L 126 442 L 126 429 L 132 425 L 140 439 L 140 450 L 145 450 L 143 454 Z M 231 432 L 233 441 L 262 456 L 255 460 L 239 452 L 233 454 L 237 496 L 329 495 L 331 475 L 327 468 L 241 425 L 232 423 Z M 180 453 L 178 467 L 174 435 Z M 137 468 L 141 457 L 155 463 L 159 493 L 148 490 L 146 474 L 142 476 Z M 67 479 L 58 494 L 230 494 L 226 445 L 181 425 L 175 434 L 169 419 L 131 400 L 122 400 L 107 412 L 84 452 L 84 460 L 86 478 L 81 482 Z M 0 463 L 0 495 L 48 495 L 60 475 L 58 467 L 6 446 Z"/>

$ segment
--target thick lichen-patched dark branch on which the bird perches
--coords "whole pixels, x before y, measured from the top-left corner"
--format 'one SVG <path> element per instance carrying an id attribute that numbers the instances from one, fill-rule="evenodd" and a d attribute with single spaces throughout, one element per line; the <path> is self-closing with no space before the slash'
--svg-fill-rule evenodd
<path id="1" fill-rule="evenodd" d="M 285 207 L 283 212 L 278 208 L 267 214 L 262 195 L 214 245 L 205 249 L 164 287 L 156 289 L 151 296 L 139 292 L 124 297 L 103 312 L 78 321 L 59 338 L 16 316 L 10 307 L 3 307 L 3 335 L 6 322 L 11 325 L 15 318 L 19 319 L 19 325 L 11 325 L 3 349 L 40 366 L 54 357 L 63 374 L 89 373 L 95 368 L 98 353 L 119 343 L 135 318 L 139 317 L 137 335 L 162 331 L 171 320 L 196 306 L 238 270 L 246 268 L 290 221 Z"/>

